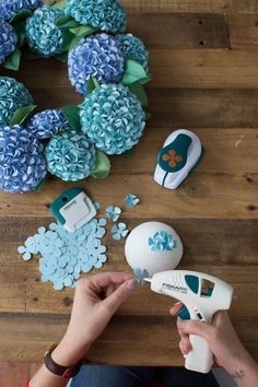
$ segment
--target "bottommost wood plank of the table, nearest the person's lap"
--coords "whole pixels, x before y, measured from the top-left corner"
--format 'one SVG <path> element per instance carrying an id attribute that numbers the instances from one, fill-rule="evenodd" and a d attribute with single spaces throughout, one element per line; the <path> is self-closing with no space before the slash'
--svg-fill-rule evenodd
<path id="1" fill-rule="evenodd" d="M 86 359 L 98 364 L 183 365 L 174 320 L 171 316 L 115 316 Z M 257 359 L 257 321 L 242 317 L 233 321 Z M 0 314 L 0 360 L 42 361 L 46 348 L 60 340 L 67 324 L 68 316 L 63 315 Z"/>

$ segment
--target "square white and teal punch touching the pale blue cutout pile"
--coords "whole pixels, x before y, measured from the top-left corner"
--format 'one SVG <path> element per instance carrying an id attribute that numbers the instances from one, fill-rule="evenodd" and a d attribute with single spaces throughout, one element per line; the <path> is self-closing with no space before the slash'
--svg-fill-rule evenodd
<path id="1" fill-rule="evenodd" d="M 49 210 L 58 223 L 71 233 L 96 215 L 93 202 L 81 188 L 70 188 L 62 192 Z"/>

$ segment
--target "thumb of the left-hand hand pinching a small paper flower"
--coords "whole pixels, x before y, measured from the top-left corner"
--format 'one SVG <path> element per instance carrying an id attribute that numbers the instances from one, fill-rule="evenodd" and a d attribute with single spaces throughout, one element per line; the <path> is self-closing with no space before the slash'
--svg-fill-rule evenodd
<path id="1" fill-rule="evenodd" d="M 114 293 L 112 293 L 106 300 L 103 301 L 110 312 L 114 314 L 117 308 L 127 300 L 127 297 L 137 288 L 138 282 L 134 278 L 124 282 Z"/>

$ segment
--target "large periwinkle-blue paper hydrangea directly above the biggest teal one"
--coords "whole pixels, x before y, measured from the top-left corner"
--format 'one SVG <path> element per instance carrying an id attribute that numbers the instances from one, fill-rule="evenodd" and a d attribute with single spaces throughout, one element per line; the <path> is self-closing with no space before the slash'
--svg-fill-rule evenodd
<path id="1" fill-rule="evenodd" d="M 69 78 L 81 95 L 86 95 L 91 75 L 101 83 L 116 83 L 122 72 L 124 55 L 117 40 L 107 34 L 89 36 L 69 52 Z"/>

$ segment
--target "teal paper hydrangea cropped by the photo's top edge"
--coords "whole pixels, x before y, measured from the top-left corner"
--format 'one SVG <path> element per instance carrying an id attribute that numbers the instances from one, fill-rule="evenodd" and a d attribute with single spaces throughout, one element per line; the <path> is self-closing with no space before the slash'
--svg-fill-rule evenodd
<path id="1" fill-rule="evenodd" d="M 116 0 L 68 0 L 64 13 L 80 24 L 110 33 L 124 32 L 127 24 L 126 13 Z"/>

